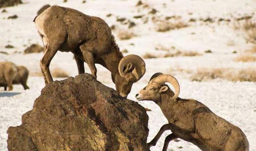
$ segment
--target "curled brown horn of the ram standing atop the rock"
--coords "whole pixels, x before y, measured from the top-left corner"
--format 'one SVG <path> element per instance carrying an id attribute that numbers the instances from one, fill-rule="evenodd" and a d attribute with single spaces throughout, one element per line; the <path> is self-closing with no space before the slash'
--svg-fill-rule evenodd
<path id="1" fill-rule="evenodd" d="M 146 72 L 146 64 L 141 57 L 139 57 L 135 54 L 130 54 L 128 56 L 125 56 L 120 60 L 119 65 L 118 65 L 119 74 L 122 77 L 125 76 L 123 73 L 123 68 L 125 67 L 126 64 L 128 64 L 130 62 L 134 66 L 134 70 L 132 71 L 132 74 L 136 77 L 136 81 L 139 81 L 139 79 L 141 79 L 141 77 Z"/>

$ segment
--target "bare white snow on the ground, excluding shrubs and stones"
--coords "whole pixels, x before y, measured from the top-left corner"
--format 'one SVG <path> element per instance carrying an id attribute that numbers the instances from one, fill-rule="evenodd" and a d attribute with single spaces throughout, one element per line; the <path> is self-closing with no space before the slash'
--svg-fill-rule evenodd
<path id="1" fill-rule="evenodd" d="M 201 67 L 256 68 L 255 62 L 235 62 L 234 58 L 237 54 L 232 53 L 237 51 L 239 54 L 253 46 L 251 43 L 246 43 L 242 32 L 234 30 L 233 21 L 235 18 L 252 15 L 256 11 L 255 0 L 142 0 L 143 3 L 147 3 L 148 7 L 146 8 L 136 6 L 137 0 L 86 0 L 86 3 L 82 3 L 82 0 L 68 0 L 67 3 L 63 3 L 62 0 L 23 1 L 22 5 L 5 8 L 7 13 L 0 13 L 0 51 L 9 53 L 9 55 L 0 53 L 0 61 L 11 61 L 17 65 L 24 65 L 29 68 L 31 75 L 40 72 L 39 60 L 43 54 L 23 54 L 23 51 L 32 43 L 42 45 L 32 21 L 39 8 L 45 4 L 70 7 L 88 15 L 101 17 L 110 26 L 116 25 L 118 30 L 128 30 L 128 25 L 117 22 L 117 17 L 125 17 L 135 22 L 136 26 L 129 30 L 134 32 L 136 37 L 130 40 L 120 40 L 116 36 L 120 49 L 128 50 L 128 53 L 124 55 L 143 56 L 147 52 L 155 55 L 164 54 L 165 51 L 155 49 L 158 45 L 168 48 L 173 46 L 181 51 L 197 51 L 203 54 L 195 57 L 145 59 L 146 74 L 140 81 L 134 83 L 132 91 L 128 95 L 128 99 L 134 101 L 136 101 L 135 94 L 146 86 L 150 76 L 155 72 L 170 73 L 173 68 L 177 67 L 189 70 Z M 148 14 L 152 8 L 158 11 L 155 15 Z M 3 8 L 0 9 L 0 12 L 2 10 Z M 112 16 L 106 17 L 109 13 Z M 7 19 L 8 16 L 14 14 L 18 15 L 17 19 Z M 138 15 L 144 15 L 144 17 L 142 19 L 133 18 Z M 168 32 L 156 32 L 155 24 L 151 19 L 153 16 L 160 18 L 181 16 L 181 20 L 189 26 Z M 149 21 L 144 24 L 146 17 L 149 17 Z M 215 21 L 207 24 L 198 21 L 200 18 L 206 19 L 207 17 L 214 20 L 223 18 L 231 21 L 221 23 Z M 197 22 L 189 22 L 191 18 L 196 19 Z M 118 30 L 113 31 L 114 35 L 118 34 Z M 13 45 L 14 48 L 5 48 L 8 44 Z M 204 54 L 204 51 L 208 49 L 213 53 Z M 77 67 L 71 53 L 58 52 L 50 65 L 51 69 L 56 67 L 65 69 L 70 76 L 77 75 Z M 100 65 L 96 65 L 96 67 L 98 80 L 114 88 L 110 72 Z M 87 65 L 85 65 L 85 71 L 90 73 Z M 196 99 L 208 106 L 218 116 L 240 127 L 249 140 L 250 150 L 256 151 L 256 83 L 225 80 L 191 82 L 182 73 L 175 76 L 181 84 L 180 97 Z M 20 125 L 21 115 L 32 109 L 34 100 L 44 87 L 43 78 L 30 76 L 28 86 L 30 89 L 26 91 L 20 85 L 15 85 L 14 91 L 11 92 L 5 92 L 3 88 L 0 88 L 1 151 L 7 150 L 6 130 L 10 126 Z M 148 141 L 150 141 L 160 127 L 167 123 L 167 120 L 160 108 L 153 102 L 139 103 L 152 110 L 147 112 L 149 115 Z M 157 145 L 150 149 L 152 151 L 162 150 L 164 138 L 170 133 L 170 131 L 166 131 Z M 171 141 L 168 151 L 171 150 L 194 151 L 199 149 L 197 146 L 181 140 L 179 142 Z"/>

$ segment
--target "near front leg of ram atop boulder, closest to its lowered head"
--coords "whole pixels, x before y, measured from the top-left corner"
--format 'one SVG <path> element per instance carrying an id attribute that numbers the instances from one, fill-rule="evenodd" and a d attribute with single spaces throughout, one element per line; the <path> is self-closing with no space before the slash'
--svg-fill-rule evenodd
<path id="1" fill-rule="evenodd" d="M 95 64 L 94 64 L 94 58 L 93 58 L 93 53 L 92 52 L 89 52 L 89 51 L 86 51 L 85 49 L 85 46 L 84 45 L 81 45 L 80 46 L 80 49 L 83 53 L 83 57 L 85 58 L 86 60 L 86 63 L 88 64 L 90 70 L 91 70 L 91 74 L 97 78 L 97 69 L 95 67 Z"/>

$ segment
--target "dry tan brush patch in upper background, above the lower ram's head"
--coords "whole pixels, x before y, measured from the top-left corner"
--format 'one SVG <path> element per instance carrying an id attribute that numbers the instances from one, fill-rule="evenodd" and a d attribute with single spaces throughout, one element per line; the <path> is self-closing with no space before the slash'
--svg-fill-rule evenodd
<path id="1" fill-rule="evenodd" d="M 188 25 L 185 24 L 182 21 L 166 21 L 166 20 L 162 20 L 162 21 L 156 21 L 155 22 L 155 30 L 157 32 L 167 32 L 169 30 L 173 30 L 173 29 L 180 29 L 180 28 L 184 28 L 187 27 Z"/>

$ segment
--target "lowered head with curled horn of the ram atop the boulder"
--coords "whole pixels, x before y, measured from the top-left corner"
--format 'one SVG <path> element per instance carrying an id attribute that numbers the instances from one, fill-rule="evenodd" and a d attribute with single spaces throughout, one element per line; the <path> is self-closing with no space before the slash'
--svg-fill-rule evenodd
<path id="1" fill-rule="evenodd" d="M 112 74 L 112 81 L 119 95 L 126 98 L 133 83 L 139 81 L 146 72 L 145 62 L 141 57 L 131 54 L 120 60 L 118 71 L 119 74 Z"/>

